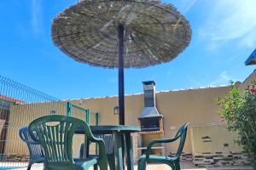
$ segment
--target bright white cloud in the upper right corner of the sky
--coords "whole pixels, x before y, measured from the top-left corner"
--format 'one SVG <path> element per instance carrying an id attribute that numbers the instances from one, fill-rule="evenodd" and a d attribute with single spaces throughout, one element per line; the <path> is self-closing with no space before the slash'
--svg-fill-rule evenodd
<path id="1" fill-rule="evenodd" d="M 199 36 L 210 40 L 208 49 L 239 40 L 241 46 L 256 45 L 256 1 L 214 0 L 206 23 L 199 30 Z M 212 48 L 214 47 L 214 48 Z"/>

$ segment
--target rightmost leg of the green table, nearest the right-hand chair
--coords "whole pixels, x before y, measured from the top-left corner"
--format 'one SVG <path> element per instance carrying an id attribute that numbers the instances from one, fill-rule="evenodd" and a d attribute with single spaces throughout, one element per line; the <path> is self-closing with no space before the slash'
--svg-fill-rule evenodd
<path id="1" fill-rule="evenodd" d="M 133 150 L 132 150 L 132 141 L 131 133 L 125 133 L 125 146 L 126 146 L 126 164 L 127 170 L 133 170 Z"/>

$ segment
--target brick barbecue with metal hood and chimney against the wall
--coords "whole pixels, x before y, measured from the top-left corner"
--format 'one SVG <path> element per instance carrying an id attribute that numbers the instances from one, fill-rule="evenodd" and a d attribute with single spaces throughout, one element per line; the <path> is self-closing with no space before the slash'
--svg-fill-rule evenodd
<path id="1" fill-rule="evenodd" d="M 135 160 L 141 156 L 147 149 L 148 142 L 152 139 L 161 139 L 164 135 L 163 116 L 159 113 L 155 105 L 155 82 L 143 82 L 144 108 L 138 116 L 138 125 L 141 132 L 137 133 L 134 138 Z M 163 155 L 165 147 L 162 144 L 155 144 L 151 148 L 152 154 Z"/>

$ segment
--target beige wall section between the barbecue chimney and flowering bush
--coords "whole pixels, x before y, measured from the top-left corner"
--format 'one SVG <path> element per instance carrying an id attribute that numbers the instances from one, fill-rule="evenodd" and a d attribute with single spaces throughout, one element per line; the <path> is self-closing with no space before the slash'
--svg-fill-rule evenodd
<path id="1" fill-rule="evenodd" d="M 230 88 L 201 88 L 194 90 L 160 93 L 157 95 L 157 106 L 164 116 L 166 137 L 176 133 L 178 127 L 190 122 L 195 125 L 219 124 L 216 99 L 223 96 Z M 175 129 L 171 130 L 171 127 Z M 176 144 L 168 144 L 166 152 L 174 152 Z M 191 152 L 190 131 L 188 131 L 184 152 Z"/>

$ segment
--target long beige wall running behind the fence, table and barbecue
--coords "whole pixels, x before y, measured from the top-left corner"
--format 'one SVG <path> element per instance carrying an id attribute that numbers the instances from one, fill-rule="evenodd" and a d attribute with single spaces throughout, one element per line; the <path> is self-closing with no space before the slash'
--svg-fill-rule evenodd
<path id="1" fill-rule="evenodd" d="M 182 126 L 185 122 L 190 122 L 190 127 L 205 124 L 222 124 L 217 114 L 218 106 L 216 105 L 216 99 L 224 96 L 228 90 L 230 90 L 230 87 L 198 88 L 156 93 L 157 108 L 160 114 L 164 116 L 165 137 L 171 137 L 176 133 L 178 127 Z M 74 99 L 70 101 L 75 105 L 90 109 L 91 124 L 95 123 L 94 114 L 96 112 L 100 114 L 100 124 L 118 124 L 118 115 L 113 115 L 113 107 L 118 105 L 118 98 L 116 96 Z M 50 111 L 49 104 L 44 105 Z M 27 125 L 28 122 L 32 122 L 38 116 L 49 114 L 49 111 L 42 112 L 36 111 L 35 109 L 35 111 L 26 112 L 26 108 L 21 109 L 21 107 L 30 108 L 29 105 L 16 105 L 15 107 L 12 108 L 10 121 L 14 124 L 16 123 L 16 127 L 24 124 Z M 137 117 L 142 111 L 143 94 L 125 96 L 125 124 L 137 125 Z M 60 112 L 66 113 L 66 110 L 62 109 Z M 74 115 L 76 116 L 76 114 Z M 84 119 L 84 116 L 81 119 Z M 24 120 L 26 121 L 24 122 Z M 12 147 L 16 144 L 15 142 L 20 140 L 17 138 L 17 133 L 18 128 L 10 130 L 9 140 L 13 140 L 13 143 L 8 144 L 8 151 L 13 150 Z M 177 144 L 166 145 L 166 154 L 175 152 L 176 150 Z M 190 153 L 192 151 L 190 130 L 183 151 Z"/>

